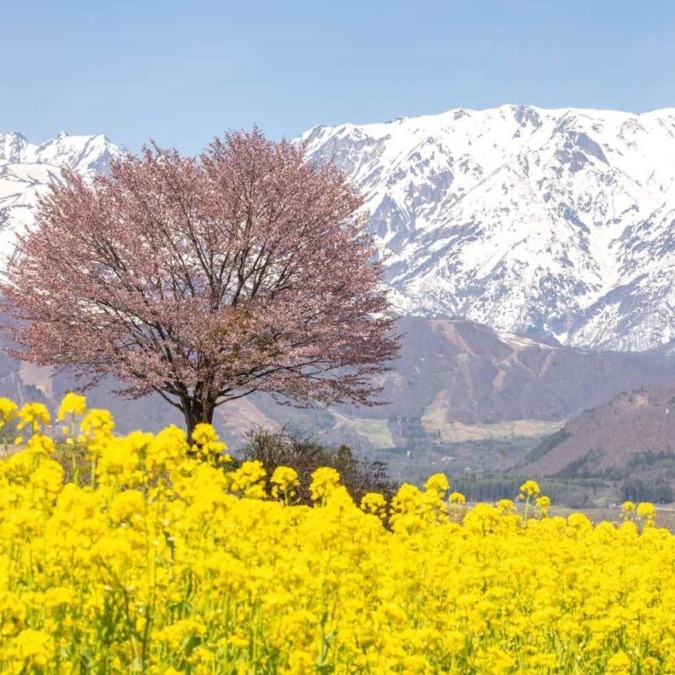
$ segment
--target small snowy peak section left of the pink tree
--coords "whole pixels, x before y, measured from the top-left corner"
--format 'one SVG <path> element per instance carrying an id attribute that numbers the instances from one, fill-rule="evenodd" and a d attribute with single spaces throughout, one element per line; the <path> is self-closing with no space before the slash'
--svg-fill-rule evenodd
<path id="1" fill-rule="evenodd" d="M 21 134 L 0 132 L 0 256 L 11 252 L 16 233 L 33 222 L 39 195 L 61 180 L 64 166 L 91 178 L 119 154 L 103 135 L 61 132 L 35 145 Z"/>

